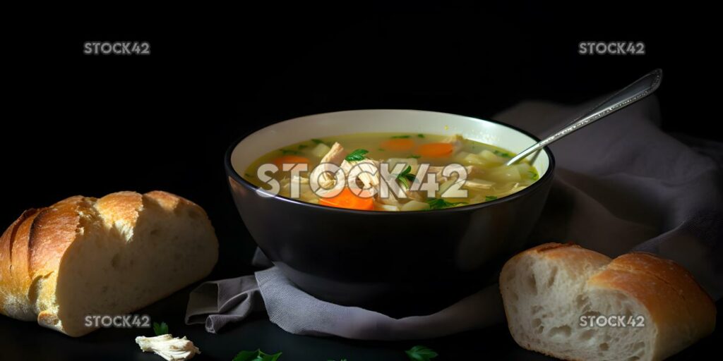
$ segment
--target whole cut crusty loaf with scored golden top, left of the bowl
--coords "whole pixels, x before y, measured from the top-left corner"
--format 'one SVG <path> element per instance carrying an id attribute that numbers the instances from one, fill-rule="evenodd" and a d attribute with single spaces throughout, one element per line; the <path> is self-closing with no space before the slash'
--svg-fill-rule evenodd
<path id="1" fill-rule="evenodd" d="M 0 313 L 70 336 L 201 279 L 218 258 L 205 212 L 163 191 L 74 196 L 25 211 L 0 238 Z"/>

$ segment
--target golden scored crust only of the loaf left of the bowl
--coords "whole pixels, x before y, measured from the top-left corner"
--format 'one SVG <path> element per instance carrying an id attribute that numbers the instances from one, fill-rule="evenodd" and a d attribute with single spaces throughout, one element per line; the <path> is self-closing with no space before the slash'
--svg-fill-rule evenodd
<path id="1" fill-rule="evenodd" d="M 208 224 L 205 238 L 215 243 L 209 243 L 209 246 L 215 246 L 215 264 L 218 241 L 213 235 L 213 227 L 203 209 L 192 201 L 163 191 L 145 194 L 123 191 L 100 199 L 72 196 L 46 208 L 23 212 L 3 233 L 0 238 L 0 313 L 24 321 L 36 320 L 40 325 L 72 336 L 92 331 L 69 332 L 59 319 L 56 282 L 64 256 L 86 232 L 103 232 L 99 231 L 101 228 L 113 228 L 123 238 L 131 240 L 144 204 L 149 203 L 158 204 L 169 214 L 189 208 L 193 214 L 205 219 L 201 222 Z M 210 272 L 213 264 L 210 267 L 202 265 L 203 276 Z M 186 284 L 196 280 L 190 279 Z"/>

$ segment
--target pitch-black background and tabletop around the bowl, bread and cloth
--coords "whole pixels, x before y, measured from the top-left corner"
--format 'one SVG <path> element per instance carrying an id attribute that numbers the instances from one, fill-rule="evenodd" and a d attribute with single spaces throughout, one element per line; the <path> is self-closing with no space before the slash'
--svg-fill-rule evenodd
<path id="1" fill-rule="evenodd" d="M 235 277 L 252 271 L 254 246 L 228 193 L 223 152 L 238 136 L 276 121 L 361 108 L 490 118 L 526 99 L 581 103 L 660 67 L 662 128 L 723 139 L 714 95 L 703 92 L 712 89 L 719 63 L 706 9 L 688 9 L 696 12 L 691 15 L 629 7 L 568 14 L 547 5 L 377 6 L 333 15 L 287 10 L 155 18 L 163 21 L 98 14 L 26 25 L 42 35 L 27 32 L 9 57 L 7 101 L 18 111 L 4 117 L 0 223 L 75 194 L 171 191 L 204 206 L 216 228 L 221 260 L 211 277 Z M 151 55 L 84 55 L 83 42 L 93 40 L 148 41 Z M 578 43 L 587 40 L 643 41 L 646 55 L 581 56 Z M 200 326 L 182 325 L 184 297 L 187 292 L 179 292 L 148 312 L 182 329 L 202 350 L 214 344 L 205 356 L 221 360 L 257 347 L 284 351 L 286 360 L 403 360 L 398 350 L 419 343 L 291 336 L 262 317 L 207 336 Z M 18 357 L 46 358 L 54 350 L 70 358 L 139 353 L 131 340 L 114 339 L 137 331 L 100 331 L 85 338 L 92 344 L 0 318 L 3 334 L 13 329 L 17 340 L 26 340 L 9 346 Z M 52 346 L 43 350 L 28 341 L 35 332 Z M 476 360 L 473 355 L 490 351 L 515 359 L 534 355 L 518 349 L 503 327 L 424 343 L 442 352 L 442 360 Z M 709 339 L 684 355 L 703 355 L 712 346 Z M 119 348 L 124 351 L 116 354 Z"/>

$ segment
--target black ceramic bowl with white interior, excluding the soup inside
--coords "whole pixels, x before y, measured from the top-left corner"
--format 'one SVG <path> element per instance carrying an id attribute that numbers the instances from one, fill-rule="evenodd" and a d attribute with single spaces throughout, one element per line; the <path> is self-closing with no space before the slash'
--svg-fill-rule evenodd
<path id="1" fill-rule="evenodd" d="M 273 149 L 359 132 L 462 134 L 513 152 L 538 142 L 502 123 L 419 110 L 325 113 L 260 129 L 231 145 L 226 173 L 241 218 L 266 256 L 323 300 L 403 314 L 427 312 L 494 282 L 502 261 L 521 251 L 547 199 L 555 168 L 549 149 L 534 159 L 540 178 L 528 188 L 484 204 L 423 212 L 265 198 L 239 175 Z"/>

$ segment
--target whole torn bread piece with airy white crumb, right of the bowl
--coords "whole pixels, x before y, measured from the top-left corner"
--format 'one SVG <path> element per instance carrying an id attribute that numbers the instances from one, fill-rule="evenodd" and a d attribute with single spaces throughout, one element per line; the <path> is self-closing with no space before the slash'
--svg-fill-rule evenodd
<path id="1" fill-rule="evenodd" d="M 649 253 L 539 245 L 505 264 L 500 291 L 515 342 L 565 360 L 662 360 L 715 328 L 690 273 Z"/>

